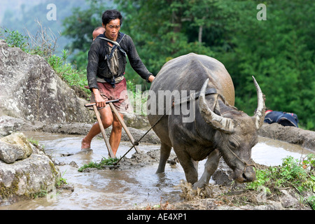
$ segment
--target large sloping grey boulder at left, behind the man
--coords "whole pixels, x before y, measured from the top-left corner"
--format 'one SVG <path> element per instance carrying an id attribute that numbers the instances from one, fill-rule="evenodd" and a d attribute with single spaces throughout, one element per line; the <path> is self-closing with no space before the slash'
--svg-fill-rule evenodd
<path id="1" fill-rule="evenodd" d="M 9 48 L 0 40 L 0 116 L 20 118 L 31 123 L 92 122 L 87 102 L 76 96 L 57 76 L 48 62 Z"/>

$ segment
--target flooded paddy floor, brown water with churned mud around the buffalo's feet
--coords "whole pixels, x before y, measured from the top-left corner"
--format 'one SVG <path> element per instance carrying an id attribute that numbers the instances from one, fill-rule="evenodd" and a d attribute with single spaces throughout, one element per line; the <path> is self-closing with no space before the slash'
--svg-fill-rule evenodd
<path id="1" fill-rule="evenodd" d="M 141 141 L 139 147 L 142 153 L 132 150 L 120 162 L 118 169 L 87 169 L 78 172 L 78 167 L 108 156 L 102 136 L 93 140 L 92 151 L 80 151 L 80 139 L 90 127 L 88 124 L 69 123 L 44 126 L 38 129 L 41 132 L 29 132 L 29 137 L 34 137 L 44 145 L 46 153 L 59 165 L 68 185 L 61 189 L 57 199 L 52 202 L 42 198 L 0 209 L 309 209 L 298 202 L 291 189 L 284 189 L 281 197 L 274 195 L 261 200 L 259 192 L 244 190 L 241 186 L 225 186 L 226 183 L 218 181 L 228 180 L 225 172 L 218 172 L 216 181 L 211 179 L 207 188 L 194 190 L 186 181 L 181 181 L 185 175 L 173 151 L 165 174 L 155 174 L 160 158 L 160 144 L 153 131 Z M 272 129 L 268 131 L 270 127 Z M 295 139 L 304 132 L 295 130 Z M 107 134 L 109 131 L 110 129 L 106 130 Z M 130 132 L 137 140 L 146 130 L 130 128 Z M 272 134 L 272 138 L 275 138 L 276 127 L 265 126 L 261 133 Z M 280 137 L 283 136 L 281 128 L 278 133 Z M 260 137 L 260 143 L 253 148 L 252 158 L 255 162 L 269 166 L 280 165 L 281 158 L 286 155 L 300 158 L 301 153 L 314 153 L 314 148 L 309 148 L 308 151 L 302 147 L 312 146 L 312 134 L 307 132 L 300 141 L 293 139 L 297 144 Z M 125 154 L 130 146 L 127 135 L 123 133 L 118 157 Z M 203 172 L 204 162 L 200 162 L 199 174 Z M 218 169 L 222 171 L 225 167 L 221 165 Z"/>

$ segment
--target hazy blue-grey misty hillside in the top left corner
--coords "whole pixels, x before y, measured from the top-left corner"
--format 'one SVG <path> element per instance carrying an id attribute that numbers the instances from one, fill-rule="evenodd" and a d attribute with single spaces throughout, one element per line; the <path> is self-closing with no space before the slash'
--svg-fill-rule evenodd
<path id="1" fill-rule="evenodd" d="M 49 3 L 54 3 L 56 6 L 57 20 L 47 19 L 47 13 L 50 11 L 47 9 Z M 71 42 L 71 39 L 62 36 L 62 22 L 64 18 L 72 15 L 72 10 L 76 7 L 87 8 L 87 3 L 85 0 L 18 0 L 13 4 L 12 1 L 3 0 L 0 1 L 0 27 L 18 30 L 22 34 L 26 34 L 27 30 L 35 36 L 38 31 L 36 20 L 39 20 L 43 27 L 50 29 L 58 38 L 56 49 L 58 54 Z"/>

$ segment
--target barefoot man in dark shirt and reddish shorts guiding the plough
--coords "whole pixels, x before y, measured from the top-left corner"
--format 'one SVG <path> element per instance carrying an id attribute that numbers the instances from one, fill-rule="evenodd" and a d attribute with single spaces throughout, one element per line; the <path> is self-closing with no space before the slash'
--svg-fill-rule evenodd
<path id="1" fill-rule="evenodd" d="M 124 76 L 127 62 L 126 55 L 132 68 L 141 78 L 148 82 L 152 82 L 154 79 L 152 73 L 141 62 L 132 38 L 120 33 L 122 19 L 123 16 L 117 10 L 106 10 L 103 13 L 102 25 L 105 32 L 92 42 L 87 64 L 87 81 L 92 91 L 91 101 L 97 104 L 104 128 L 113 125 L 109 143 L 114 155 L 116 155 L 120 144 L 122 125 L 118 118 L 113 115 L 109 105 L 106 105 L 106 101 L 120 99 L 114 106 L 120 117 L 123 118 L 123 112 L 128 109 L 127 85 Z M 111 54 L 111 49 L 115 43 L 113 41 L 118 41 L 121 37 L 123 38 L 119 43 L 120 48 L 116 48 Z M 90 149 L 92 139 L 100 132 L 99 124 L 95 123 L 82 140 L 81 150 Z"/>

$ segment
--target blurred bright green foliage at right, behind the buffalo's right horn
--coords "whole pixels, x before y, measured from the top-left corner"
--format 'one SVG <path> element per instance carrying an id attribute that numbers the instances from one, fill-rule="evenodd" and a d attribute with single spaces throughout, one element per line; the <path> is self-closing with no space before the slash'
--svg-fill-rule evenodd
<path id="1" fill-rule="evenodd" d="M 239 3 L 246 7 L 233 33 L 235 47 L 220 55 L 234 80 L 237 106 L 253 112 L 254 75 L 269 109 L 297 113 L 300 125 L 314 130 L 314 1 L 271 1 L 265 21 L 258 21 L 255 11 L 249 10 L 258 1 Z"/>

